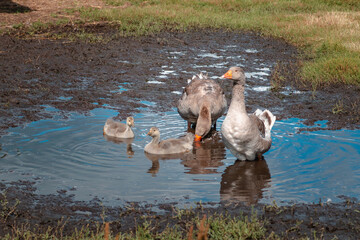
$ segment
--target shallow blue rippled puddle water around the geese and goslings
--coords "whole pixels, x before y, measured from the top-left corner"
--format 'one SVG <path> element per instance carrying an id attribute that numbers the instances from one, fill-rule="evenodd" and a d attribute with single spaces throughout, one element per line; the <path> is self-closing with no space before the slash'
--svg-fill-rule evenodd
<path id="1" fill-rule="evenodd" d="M 134 116 L 133 141 L 103 136 L 106 119 L 117 115 L 104 108 L 89 116 L 71 114 L 67 120 L 40 120 L 12 128 L 0 138 L 0 177 L 35 181 L 40 194 L 67 190 L 77 200 L 98 197 L 113 205 L 125 201 L 336 202 L 341 195 L 360 196 L 359 130 L 298 133 L 304 127 L 301 120 L 287 119 L 275 123 L 265 161 L 236 161 L 217 132 L 192 153 L 164 160 L 144 154 L 150 141 L 147 131 L 157 126 L 163 139 L 178 137 L 186 133 L 186 122 L 176 109 L 159 114 L 146 108 L 141 111 Z M 217 129 L 222 121 L 218 120 Z"/>

